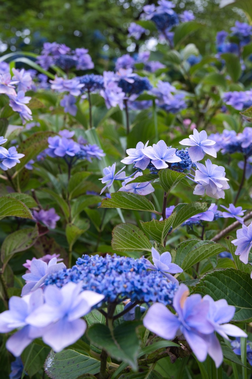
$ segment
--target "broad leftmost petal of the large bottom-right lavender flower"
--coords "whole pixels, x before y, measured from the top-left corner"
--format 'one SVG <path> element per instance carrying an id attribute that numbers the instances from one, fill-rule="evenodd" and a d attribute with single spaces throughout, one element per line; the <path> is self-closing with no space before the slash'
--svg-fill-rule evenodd
<path id="1" fill-rule="evenodd" d="M 143 319 L 144 326 L 167 340 L 172 340 L 180 327 L 180 321 L 164 304 L 153 304 Z"/>

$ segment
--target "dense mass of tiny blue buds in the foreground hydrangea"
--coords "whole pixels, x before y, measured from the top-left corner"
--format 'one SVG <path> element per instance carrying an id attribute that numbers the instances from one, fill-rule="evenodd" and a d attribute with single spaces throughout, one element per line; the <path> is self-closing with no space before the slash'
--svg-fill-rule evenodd
<path id="1" fill-rule="evenodd" d="M 76 265 L 50 274 L 45 285 L 61 288 L 68 282 L 83 281 L 83 290 L 102 293 L 108 302 L 161 302 L 171 304 L 177 284 L 168 282 L 163 274 L 148 269 L 145 258 L 119 257 L 116 254 L 100 257 L 83 255 Z"/>

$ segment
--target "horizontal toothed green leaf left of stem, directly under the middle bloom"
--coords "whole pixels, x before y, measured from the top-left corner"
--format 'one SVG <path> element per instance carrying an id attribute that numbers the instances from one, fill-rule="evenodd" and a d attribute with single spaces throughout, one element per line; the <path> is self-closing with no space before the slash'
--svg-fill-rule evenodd
<path id="1" fill-rule="evenodd" d="M 122 208 L 138 211 L 155 211 L 154 205 L 146 197 L 131 192 L 111 193 L 111 199 L 103 199 L 101 208 Z"/>

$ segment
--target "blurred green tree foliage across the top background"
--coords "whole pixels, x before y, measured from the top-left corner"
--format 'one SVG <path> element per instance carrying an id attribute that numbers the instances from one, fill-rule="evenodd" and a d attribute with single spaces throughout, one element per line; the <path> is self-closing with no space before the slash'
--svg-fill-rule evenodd
<path id="1" fill-rule="evenodd" d="M 155 37 L 128 38 L 130 22 L 137 20 L 147 0 L 44 0 L 0 2 L 0 53 L 19 50 L 39 53 L 44 42 L 64 43 L 72 49 L 89 49 L 97 72 L 113 69 L 116 58 L 125 53 L 152 50 Z M 220 0 L 175 0 L 175 11 L 191 9 L 205 28 L 196 42 L 202 55 L 214 51 L 216 32 L 229 30 L 235 20 L 245 20 L 236 7 L 220 9 Z M 199 39 L 200 36 L 200 39 Z"/>

